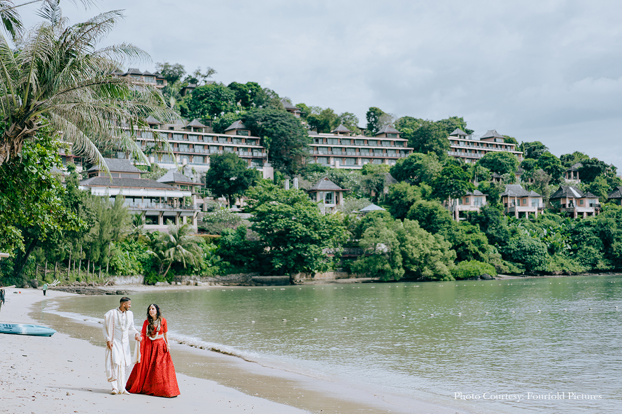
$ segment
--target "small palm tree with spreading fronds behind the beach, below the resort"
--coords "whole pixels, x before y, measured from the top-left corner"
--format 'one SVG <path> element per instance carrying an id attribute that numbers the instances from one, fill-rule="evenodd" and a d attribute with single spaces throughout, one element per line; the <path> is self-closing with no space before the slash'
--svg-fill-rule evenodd
<path id="1" fill-rule="evenodd" d="M 160 235 L 152 251 L 160 260 L 160 269 L 168 264 L 163 277 L 169 273 L 173 262 L 181 262 L 183 267 L 186 267 L 186 264 L 199 265 L 203 259 L 203 249 L 198 245 L 200 241 L 200 237 L 192 236 L 192 227 L 188 224 L 182 226 L 171 224 L 169 233 Z"/>

